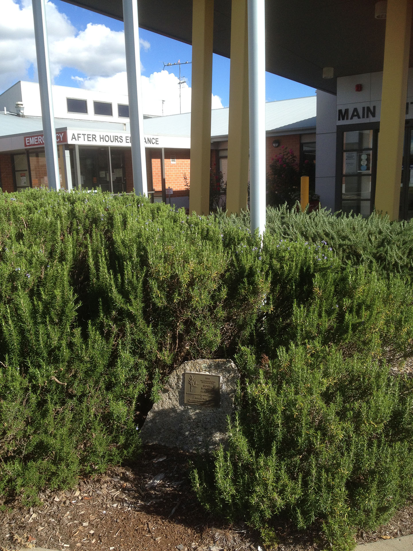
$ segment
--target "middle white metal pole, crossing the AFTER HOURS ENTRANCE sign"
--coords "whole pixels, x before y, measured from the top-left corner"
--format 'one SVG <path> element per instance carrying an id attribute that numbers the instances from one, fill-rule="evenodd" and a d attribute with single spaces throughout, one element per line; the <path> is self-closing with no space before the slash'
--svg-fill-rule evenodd
<path id="1" fill-rule="evenodd" d="M 136 195 L 147 196 L 137 0 L 123 0 L 123 24 L 131 122 L 133 188 Z"/>

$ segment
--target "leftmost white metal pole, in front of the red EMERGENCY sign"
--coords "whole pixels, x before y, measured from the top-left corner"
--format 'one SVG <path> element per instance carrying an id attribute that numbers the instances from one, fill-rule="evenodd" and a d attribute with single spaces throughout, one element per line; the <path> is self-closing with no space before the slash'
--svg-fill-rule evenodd
<path id="1" fill-rule="evenodd" d="M 45 142 L 47 185 L 60 189 L 57 156 L 55 116 L 53 114 L 52 81 L 50 78 L 49 50 L 47 45 L 45 0 L 32 0 L 36 42 L 37 73 L 39 74 L 40 105 Z"/>

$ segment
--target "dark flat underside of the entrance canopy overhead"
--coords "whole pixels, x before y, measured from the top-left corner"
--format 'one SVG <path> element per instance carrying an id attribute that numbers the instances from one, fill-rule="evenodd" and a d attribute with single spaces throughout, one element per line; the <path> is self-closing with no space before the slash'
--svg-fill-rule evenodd
<path id="1" fill-rule="evenodd" d="M 122 0 L 65 0 L 123 19 Z M 385 20 L 375 0 L 266 0 L 267 71 L 336 92 L 336 77 L 383 70 Z M 138 0 L 139 26 L 191 44 L 192 0 Z M 231 0 L 215 0 L 214 52 L 230 57 Z M 413 61 L 413 33 L 410 64 Z M 334 67 L 333 79 L 322 78 Z"/>

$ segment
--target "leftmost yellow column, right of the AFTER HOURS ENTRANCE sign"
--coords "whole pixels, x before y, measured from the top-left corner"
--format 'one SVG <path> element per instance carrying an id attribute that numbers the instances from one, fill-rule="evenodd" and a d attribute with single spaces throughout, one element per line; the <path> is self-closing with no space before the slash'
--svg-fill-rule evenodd
<path id="1" fill-rule="evenodd" d="M 192 10 L 189 212 L 209 214 L 214 0 L 193 0 Z"/>

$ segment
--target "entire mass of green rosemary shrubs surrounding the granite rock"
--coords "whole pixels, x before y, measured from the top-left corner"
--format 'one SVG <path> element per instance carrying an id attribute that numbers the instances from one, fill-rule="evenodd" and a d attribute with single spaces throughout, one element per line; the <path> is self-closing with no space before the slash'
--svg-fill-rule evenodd
<path id="1" fill-rule="evenodd" d="M 287 515 L 344 549 L 403 503 L 412 389 L 385 362 L 413 355 L 409 226 L 285 208 L 268 220 L 261 248 L 245 214 L 0 195 L 3 496 L 139 461 L 136 426 L 165 376 L 229 357 L 242 375 L 229 448 L 193 474 L 206 507 L 268 540 Z"/>

